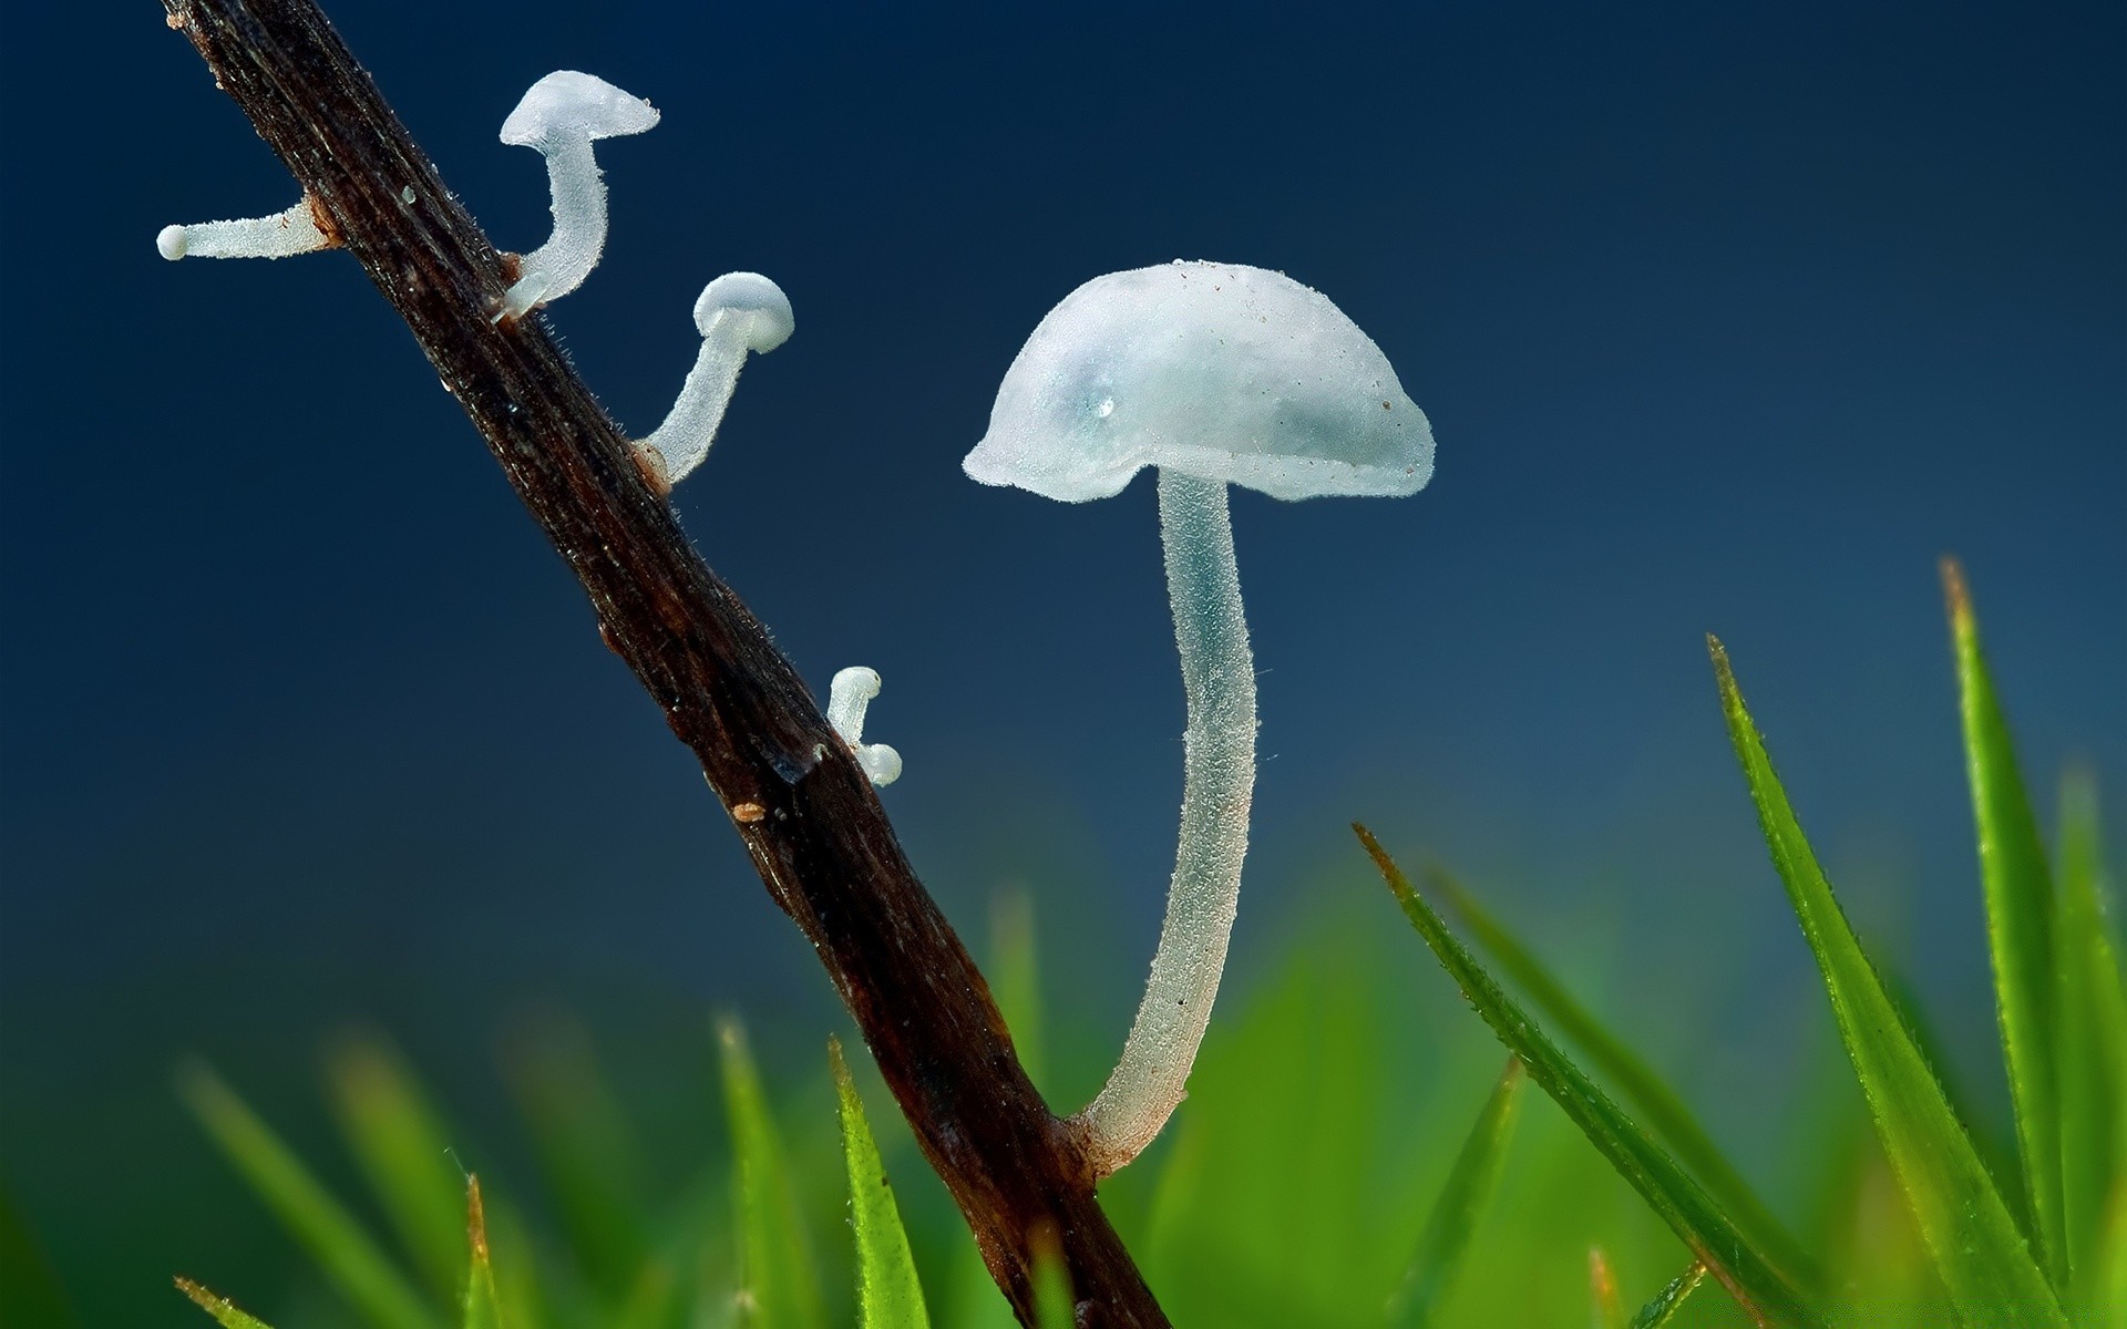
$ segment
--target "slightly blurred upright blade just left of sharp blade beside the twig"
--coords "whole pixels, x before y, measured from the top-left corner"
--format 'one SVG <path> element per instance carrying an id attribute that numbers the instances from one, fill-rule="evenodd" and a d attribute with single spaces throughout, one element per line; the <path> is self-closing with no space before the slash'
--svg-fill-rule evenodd
<path id="1" fill-rule="evenodd" d="M 717 1029 L 723 1046 L 723 1101 L 732 1118 L 732 1155 L 738 1161 L 738 1233 L 744 1297 L 761 1329 L 825 1329 L 813 1246 L 798 1212 L 791 1182 L 761 1091 L 761 1074 L 747 1050 L 738 1021 Z"/>

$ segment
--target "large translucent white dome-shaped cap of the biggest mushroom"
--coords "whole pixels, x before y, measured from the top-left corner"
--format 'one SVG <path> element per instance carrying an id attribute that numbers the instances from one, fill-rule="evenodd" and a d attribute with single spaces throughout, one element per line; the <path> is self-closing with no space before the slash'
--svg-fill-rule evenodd
<path id="1" fill-rule="evenodd" d="M 1095 276 L 1040 321 L 961 468 L 1059 502 L 1144 466 L 1272 498 L 1402 495 L 1434 432 L 1389 359 L 1321 291 L 1240 264 Z"/>

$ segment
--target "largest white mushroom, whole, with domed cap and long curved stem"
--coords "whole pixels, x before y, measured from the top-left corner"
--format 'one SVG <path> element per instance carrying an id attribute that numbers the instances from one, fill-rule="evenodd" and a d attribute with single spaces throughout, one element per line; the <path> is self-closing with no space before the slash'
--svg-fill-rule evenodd
<path id="1" fill-rule="evenodd" d="M 1287 500 L 1412 493 L 1431 476 L 1434 434 L 1380 349 L 1319 291 L 1261 268 L 1174 262 L 1098 276 L 1055 306 L 961 466 L 1061 502 L 1108 498 L 1159 468 L 1189 697 L 1183 819 L 1144 1002 L 1108 1084 L 1072 1118 L 1095 1176 L 1108 1176 L 1183 1099 L 1249 851 L 1255 661 L 1225 487 Z"/>

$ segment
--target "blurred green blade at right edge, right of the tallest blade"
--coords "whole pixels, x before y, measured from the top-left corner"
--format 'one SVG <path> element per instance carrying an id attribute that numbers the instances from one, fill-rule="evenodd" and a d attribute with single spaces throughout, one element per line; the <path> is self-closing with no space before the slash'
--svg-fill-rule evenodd
<path id="1" fill-rule="evenodd" d="M 2061 1221 L 2070 1284 L 2095 1291 L 2106 1199 L 2123 1178 L 2127 1008 L 2099 902 L 2097 785 L 2061 780 L 2061 880 L 2055 895 L 2055 1067 L 2061 1072 Z M 2087 1301 L 2089 1297 L 2084 1297 Z"/>

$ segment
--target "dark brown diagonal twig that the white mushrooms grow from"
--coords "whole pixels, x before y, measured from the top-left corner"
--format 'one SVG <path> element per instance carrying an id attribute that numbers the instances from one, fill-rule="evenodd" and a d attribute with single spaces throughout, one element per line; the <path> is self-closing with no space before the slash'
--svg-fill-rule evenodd
<path id="1" fill-rule="evenodd" d="M 502 257 L 311 0 L 164 0 L 170 26 L 406 319 L 583 583 L 606 644 L 693 748 L 783 912 L 1032 1325 L 1053 1233 L 1081 1325 L 1166 1325 L 1027 1082 L 983 974 L 917 882 L 849 748 L 702 563 L 536 317 L 496 323 Z"/>

